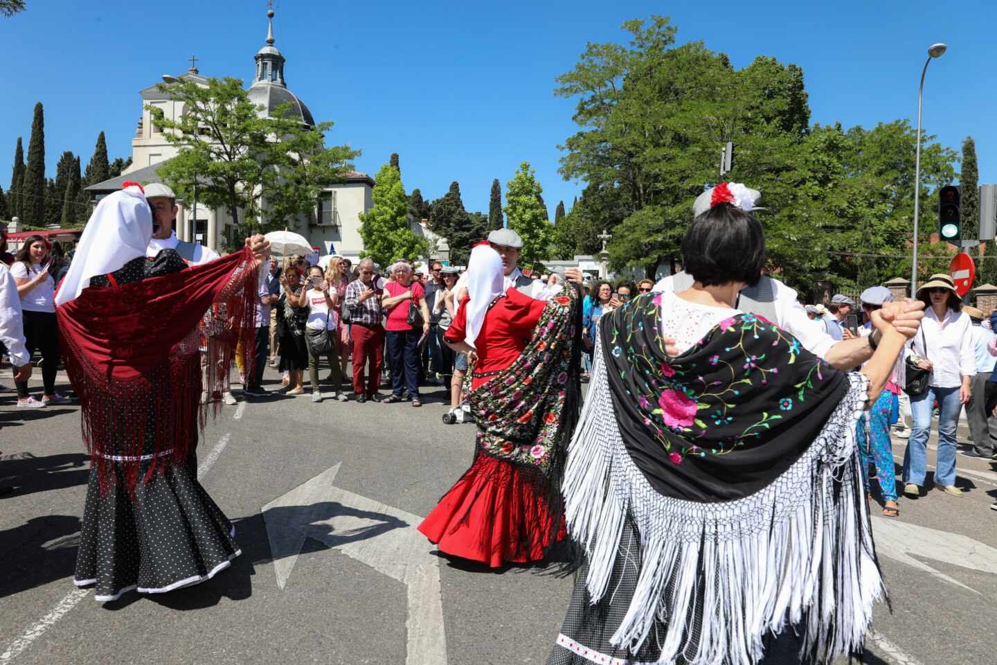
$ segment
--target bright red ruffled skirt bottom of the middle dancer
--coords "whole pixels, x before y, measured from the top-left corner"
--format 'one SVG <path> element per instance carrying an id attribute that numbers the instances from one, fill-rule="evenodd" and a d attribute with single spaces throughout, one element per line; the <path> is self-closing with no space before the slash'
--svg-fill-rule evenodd
<path id="1" fill-rule="evenodd" d="M 552 528 L 542 476 L 478 452 L 474 464 L 451 488 L 419 530 L 440 550 L 497 568 L 543 558 L 564 538 L 563 518 Z"/>

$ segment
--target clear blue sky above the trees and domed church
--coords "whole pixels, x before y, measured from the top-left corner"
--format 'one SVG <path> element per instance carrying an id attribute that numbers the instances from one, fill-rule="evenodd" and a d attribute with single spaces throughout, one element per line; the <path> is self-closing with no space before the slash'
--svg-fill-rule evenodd
<path id="1" fill-rule="evenodd" d="M 16 138 L 27 151 L 35 102 L 45 106 L 46 164 L 70 150 L 90 159 L 107 133 L 111 158 L 131 155 L 138 92 L 179 74 L 194 54 L 205 76 L 250 79 L 266 36 L 266 4 L 27 0 L 0 18 L 8 59 L 0 105 L 0 184 L 10 183 Z M 492 179 L 522 161 L 535 169 L 551 214 L 581 184 L 557 173 L 557 145 L 575 132 L 574 102 L 554 97 L 554 78 L 585 43 L 623 41 L 623 21 L 672 17 L 679 43 L 702 40 L 744 67 L 758 55 L 804 69 L 813 121 L 874 126 L 916 119 L 928 45 L 948 52 L 925 84 L 924 126 L 958 149 L 976 140 L 980 182 L 997 181 L 993 26 L 997 2 L 339 2 L 278 0 L 276 46 L 288 87 L 327 142 L 363 151 L 374 174 L 400 154 L 406 189 L 427 198 L 461 183 L 469 210 L 487 211 Z M 708 8 L 704 11 L 704 8 Z"/>

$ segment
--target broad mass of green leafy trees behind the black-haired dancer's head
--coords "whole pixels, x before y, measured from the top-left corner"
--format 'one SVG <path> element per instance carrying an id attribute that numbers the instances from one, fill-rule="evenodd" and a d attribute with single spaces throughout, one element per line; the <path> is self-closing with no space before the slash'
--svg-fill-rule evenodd
<path id="1" fill-rule="evenodd" d="M 730 141 L 734 169 L 725 177 L 763 192 L 769 268 L 781 279 L 806 292 L 819 280 L 857 285 L 902 274 L 914 192 L 909 123 L 811 126 L 799 67 L 759 57 L 736 70 L 702 43 L 676 47 L 665 17 L 623 28 L 628 46 L 590 44 L 557 80 L 556 94 L 577 99 L 579 126 L 562 147 L 560 172 L 587 183 L 577 207 L 594 213 L 584 231 L 556 234 L 559 252 L 603 226 L 614 267 L 677 268 L 692 202 L 718 181 Z M 933 137 L 923 141 L 927 196 L 951 181 L 955 155 Z M 922 230 L 930 229 L 925 208 Z M 584 217 L 573 212 L 565 221 L 577 227 Z"/>

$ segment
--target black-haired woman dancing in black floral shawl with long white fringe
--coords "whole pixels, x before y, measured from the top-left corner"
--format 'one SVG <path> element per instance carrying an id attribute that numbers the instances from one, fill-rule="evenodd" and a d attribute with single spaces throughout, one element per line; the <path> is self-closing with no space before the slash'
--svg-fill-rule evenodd
<path id="1" fill-rule="evenodd" d="M 903 347 L 883 316 L 901 307 L 872 313 L 882 338 L 860 374 L 736 310 L 765 265 L 759 195 L 701 194 L 692 288 L 599 322 L 563 485 L 585 561 L 548 665 L 748 665 L 792 626 L 805 659 L 861 647 L 884 588 L 855 422 Z"/>

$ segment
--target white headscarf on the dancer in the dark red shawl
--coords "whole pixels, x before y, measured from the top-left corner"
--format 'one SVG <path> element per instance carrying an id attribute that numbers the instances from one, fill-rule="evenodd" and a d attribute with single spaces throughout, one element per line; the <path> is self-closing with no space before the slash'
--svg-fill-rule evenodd
<path id="1" fill-rule="evenodd" d="M 121 268 L 146 255 L 153 237 L 153 212 L 137 185 L 115 191 L 101 199 L 90 216 L 73 262 L 66 273 L 56 306 L 77 298 L 90 286 L 90 278 Z"/>

